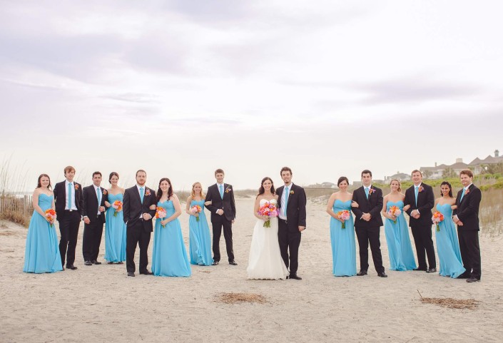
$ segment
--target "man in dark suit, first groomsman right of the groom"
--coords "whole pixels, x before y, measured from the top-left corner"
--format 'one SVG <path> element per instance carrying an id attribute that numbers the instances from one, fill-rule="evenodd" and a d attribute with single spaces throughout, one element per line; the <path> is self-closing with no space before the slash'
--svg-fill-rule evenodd
<path id="1" fill-rule="evenodd" d="M 367 275 L 369 267 L 368 246 L 372 251 L 372 260 L 379 277 L 387 277 L 382 266 L 381 241 L 379 239 L 382 226 L 382 190 L 372 186 L 372 172 L 362 171 L 362 187 L 352 193 L 352 212 L 355 213 L 355 231 L 360 247 L 360 272 L 357 276 Z"/>

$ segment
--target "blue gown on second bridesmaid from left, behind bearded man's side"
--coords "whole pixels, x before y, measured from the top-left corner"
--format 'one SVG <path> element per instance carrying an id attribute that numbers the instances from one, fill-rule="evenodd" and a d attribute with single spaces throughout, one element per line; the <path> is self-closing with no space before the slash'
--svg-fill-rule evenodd
<path id="1" fill-rule="evenodd" d="M 108 203 L 123 201 L 122 193 L 113 195 L 108 193 Z M 123 213 L 118 212 L 116 216 L 115 208 L 109 207 L 106 210 L 105 223 L 105 260 L 108 262 L 126 261 L 126 224 L 124 224 Z"/>

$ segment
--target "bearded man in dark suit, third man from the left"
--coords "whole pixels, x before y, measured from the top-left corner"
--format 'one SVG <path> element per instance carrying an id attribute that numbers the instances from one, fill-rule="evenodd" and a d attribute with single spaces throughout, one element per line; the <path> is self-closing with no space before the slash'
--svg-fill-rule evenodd
<path id="1" fill-rule="evenodd" d="M 146 187 L 145 170 L 136 172 L 136 185 L 126 189 L 122 211 L 126 223 L 126 268 L 128 276 L 135 276 L 134 254 L 136 245 L 140 246 L 140 274 L 152 275 L 147 269 L 148 244 L 153 231 L 152 217 L 156 215 L 156 192 Z"/>

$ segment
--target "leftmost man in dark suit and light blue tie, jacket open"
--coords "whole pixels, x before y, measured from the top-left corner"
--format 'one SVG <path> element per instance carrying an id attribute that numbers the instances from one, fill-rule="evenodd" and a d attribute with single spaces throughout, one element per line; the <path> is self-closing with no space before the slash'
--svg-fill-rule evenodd
<path id="1" fill-rule="evenodd" d="M 64 169 L 66 180 L 56 183 L 54 186 L 54 201 L 56 203 L 56 217 L 59 222 L 61 240 L 59 240 L 59 252 L 61 265 L 76 270 L 75 248 L 77 246 L 78 225 L 81 224 L 83 214 L 82 186 L 73 181 L 75 168 L 68 165 Z M 67 252 L 68 249 L 68 252 Z"/>

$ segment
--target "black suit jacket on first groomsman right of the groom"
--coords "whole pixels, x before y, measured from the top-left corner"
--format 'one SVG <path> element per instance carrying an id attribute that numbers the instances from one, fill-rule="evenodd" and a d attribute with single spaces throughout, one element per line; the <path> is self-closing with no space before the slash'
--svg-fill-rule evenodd
<path id="1" fill-rule="evenodd" d="M 369 198 L 365 195 L 365 188 L 362 186 L 355 189 L 352 193 L 352 201 L 358 203 L 357 208 L 351 208 L 352 213 L 355 213 L 355 227 L 375 228 L 382 226 L 382 190 L 373 185 L 370 186 L 372 193 L 369 190 Z M 370 213 L 370 220 L 362 220 L 363 213 Z"/>

